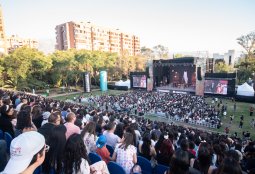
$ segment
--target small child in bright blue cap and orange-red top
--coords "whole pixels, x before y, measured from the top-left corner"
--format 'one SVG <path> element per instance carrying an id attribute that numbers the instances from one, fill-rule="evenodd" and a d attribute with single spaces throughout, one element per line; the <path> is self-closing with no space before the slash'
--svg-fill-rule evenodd
<path id="1" fill-rule="evenodd" d="M 106 164 L 108 164 L 113 159 L 110 157 L 110 152 L 106 148 L 106 136 L 101 135 L 99 136 L 97 142 L 96 142 L 96 153 L 101 156 L 101 158 L 105 161 Z"/>

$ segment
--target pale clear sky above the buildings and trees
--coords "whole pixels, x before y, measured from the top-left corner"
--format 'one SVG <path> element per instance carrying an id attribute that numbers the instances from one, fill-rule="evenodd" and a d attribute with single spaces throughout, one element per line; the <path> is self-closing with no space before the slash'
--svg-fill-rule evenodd
<path id="1" fill-rule="evenodd" d="M 0 0 L 6 34 L 35 38 L 53 51 L 55 26 L 91 23 L 140 37 L 170 52 L 242 51 L 241 35 L 255 31 L 254 0 Z"/>

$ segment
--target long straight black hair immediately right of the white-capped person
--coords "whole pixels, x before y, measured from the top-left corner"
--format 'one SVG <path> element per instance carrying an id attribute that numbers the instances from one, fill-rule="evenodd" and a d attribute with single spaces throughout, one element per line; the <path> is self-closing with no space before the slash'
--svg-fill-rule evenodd
<path id="1" fill-rule="evenodd" d="M 56 173 L 62 172 L 62 162 L 66 144 L 66 127 L 63 125 L 56 126 L 52 129 L 49 136 L 48 145 L 49 152 L 46 153 L 43 170 L 49 173 L 51 168 L 56 170 Z"/>

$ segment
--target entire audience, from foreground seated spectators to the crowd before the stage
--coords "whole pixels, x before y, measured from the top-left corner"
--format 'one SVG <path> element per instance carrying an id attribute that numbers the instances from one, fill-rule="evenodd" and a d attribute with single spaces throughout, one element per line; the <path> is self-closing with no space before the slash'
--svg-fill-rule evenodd
<path id="1" fill-rule="evenodd" d="M 94 96 L 88 103 L 67 103 L 0 90 L 0 129 L 13 140 L 9 154 L 0 140 L 0 172 L 109 173 L 118 163 L 127 174 L 141 173 L 137 157 L 167 174 L 255 173 L 255 142 L 250 138 L 209 133 L 152 121 L 139 113 L 162 111 L 173 117 L 219 121 L 217 106 L 202 97 L 158 92 Z M 111 155 L 106 146 L 114 149 Z M 88 154 L 102 161 L 92 164 Z"/>

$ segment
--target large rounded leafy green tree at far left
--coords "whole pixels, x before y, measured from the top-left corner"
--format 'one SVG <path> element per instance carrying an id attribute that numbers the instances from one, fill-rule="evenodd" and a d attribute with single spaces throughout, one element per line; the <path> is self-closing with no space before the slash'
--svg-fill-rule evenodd
<path id="1" fill-rule="evenodd" d="M 21 47 L 4 57 L 5 84 L 16 88 L 32 87 L 42 80 L 42 75 L 51 67 L 51 60 L 36 50 Z"/>

